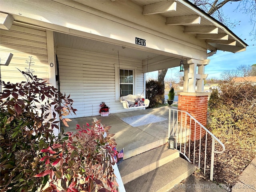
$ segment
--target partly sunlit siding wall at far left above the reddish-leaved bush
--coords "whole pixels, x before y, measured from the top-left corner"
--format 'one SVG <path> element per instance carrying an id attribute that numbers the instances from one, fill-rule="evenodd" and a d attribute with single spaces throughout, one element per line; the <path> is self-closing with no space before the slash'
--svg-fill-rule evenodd
<path id="1" fill-rule="evenodd" d="M 10 30 L 0 30 L 0 52 L 12 53 L 9 66 L 1 66 L 1 78 L 5 82 L 24 81 L 18 71 L 26 71 L 26 60 L 32 56 L 34 75 L 48 79 L 46 30 L 13 24 Z M 18 68 L 18 69 L 17 69 Z"/>

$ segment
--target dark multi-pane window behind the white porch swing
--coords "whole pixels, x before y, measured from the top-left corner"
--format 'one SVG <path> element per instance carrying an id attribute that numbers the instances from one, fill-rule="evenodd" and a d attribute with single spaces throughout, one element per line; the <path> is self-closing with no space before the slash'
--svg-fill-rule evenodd
<path id="1" fill-rule="evenodd" d="M 133 94 L 133 70 L 120 69 L 120 96 Z"/>

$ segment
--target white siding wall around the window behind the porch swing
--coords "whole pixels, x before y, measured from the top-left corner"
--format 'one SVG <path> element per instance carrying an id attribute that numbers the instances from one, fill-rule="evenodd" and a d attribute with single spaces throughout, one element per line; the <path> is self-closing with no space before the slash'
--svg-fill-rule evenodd
<path id="1" fill-rule="evenodd" d="M 60 91 L 70 94 L 74 100 L 77 116 L 68 118 L 100 115 L 100 103 L 110 107 L 110 113 L 125 112 L 120 102 L 115 100 L 115 68 L 118 56 L 85 52 L 68 48 L 57 48 L 60 72 Z M 143 90 L 142 61 L 120 58 L 120 65 L 137 67 L 136 95 Z M 142 94 L 143 95 L 143 94 Z"/>

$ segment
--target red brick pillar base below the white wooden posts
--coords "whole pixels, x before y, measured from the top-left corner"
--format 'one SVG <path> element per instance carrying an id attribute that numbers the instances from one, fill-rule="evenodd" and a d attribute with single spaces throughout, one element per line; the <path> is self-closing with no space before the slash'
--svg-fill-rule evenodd
<path id="1" fill-rule="evenodd" d="M 208 94 L 206 93 L 188 93 L 182 92 L 178 97 L 178 110 L 186 111 L 190 115 L 192 115 L 198 122 L 200 122 L 203 126 L 206 126 L 207 120 L 207 107 L 208 107 Z M 183 119 L 184 119 L 183 115 Z M 180 114 L 178 117 L 180 121 Z M 184 124 L 184 122 L 182 122 Z M 189 126 L 190 118 L 187 117 L 186 126 Z M 204 136 L 206 131 L 202 129 L 202 136 Z M 196 140 L 200 139 L 200 126 L 195 121 L 191 121 L 191 140 L 194 140 L 196 136 Z"/>

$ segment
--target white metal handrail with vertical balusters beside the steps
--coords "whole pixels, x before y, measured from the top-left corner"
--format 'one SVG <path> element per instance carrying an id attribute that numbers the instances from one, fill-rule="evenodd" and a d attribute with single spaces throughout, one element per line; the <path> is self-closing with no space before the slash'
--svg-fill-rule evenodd
<path id="1" fill-rule="evenodd" d="M 173 116 L 171 115 L 173 111 Z M 175 121 L 175 112 L 176 112 L 176 134 L 178 133 L 178 113 L 180 112 L 180 131 L 184 129 L 182 127 L 182 122 L 186 122 L 185 126 L 185 138 L 184 142 L 182 142 L 182 132 L 180 132 L 180 149 L 178 149 L 178 138 L 176 139 L 176 149 L 182 154 L 189 162 L 190 161 L 190 147 L 191 147 L 191 131 L 189 131 L 189 138 L 187 141 L 187 125 L 189 124 L 189 128 L 191 130 L 192 120 L 194 120 L 194 155 L 193 155 L 193 163 L 195 164 L 195 147 L 196 147 L 196 127 L 197 124 L 200 126 L 200 139 L 199 139 L 199 160 L 198 160 L 198 168 L 200 169 L 200 160 L 201 160 L 201 138 L 202 138 L 202 128 L 206 131 L 205 134 L 205 149 L 204 149 L 204 174 L 206 172 L 206 155 L 207 155 L 207 136 L 208 134 L 212 137 L 212 150 L 211 150 L 211 165 L 210 165 L 210 180 L 213 180 L 213 169 L 214 169 L 214 153 L 221 154 L 225 150 L 224 144 L 214 136 L 207 128 L 205 128 L 196 118 L 194 118 L 191 114 L 186 111 L 178 110 L 178 109 L 169 109 L 169 124 L 168 124 L 168 137 L 171 134 L 171 118 L 172 118 L 172 136 L 174 136 L 174 121 Z M 185 120 L 183 119 L 185 116 Z M 190 121 L 188 123 L 187 117 L 190 117 Z M 222 151 L 215 150 L 215 140 L 222 146 Z M 188 142 L 188 156 L 186 155 L 186 143 Z M 184 152 L 182 152 L 182 144 L 184 144 Z"/>

